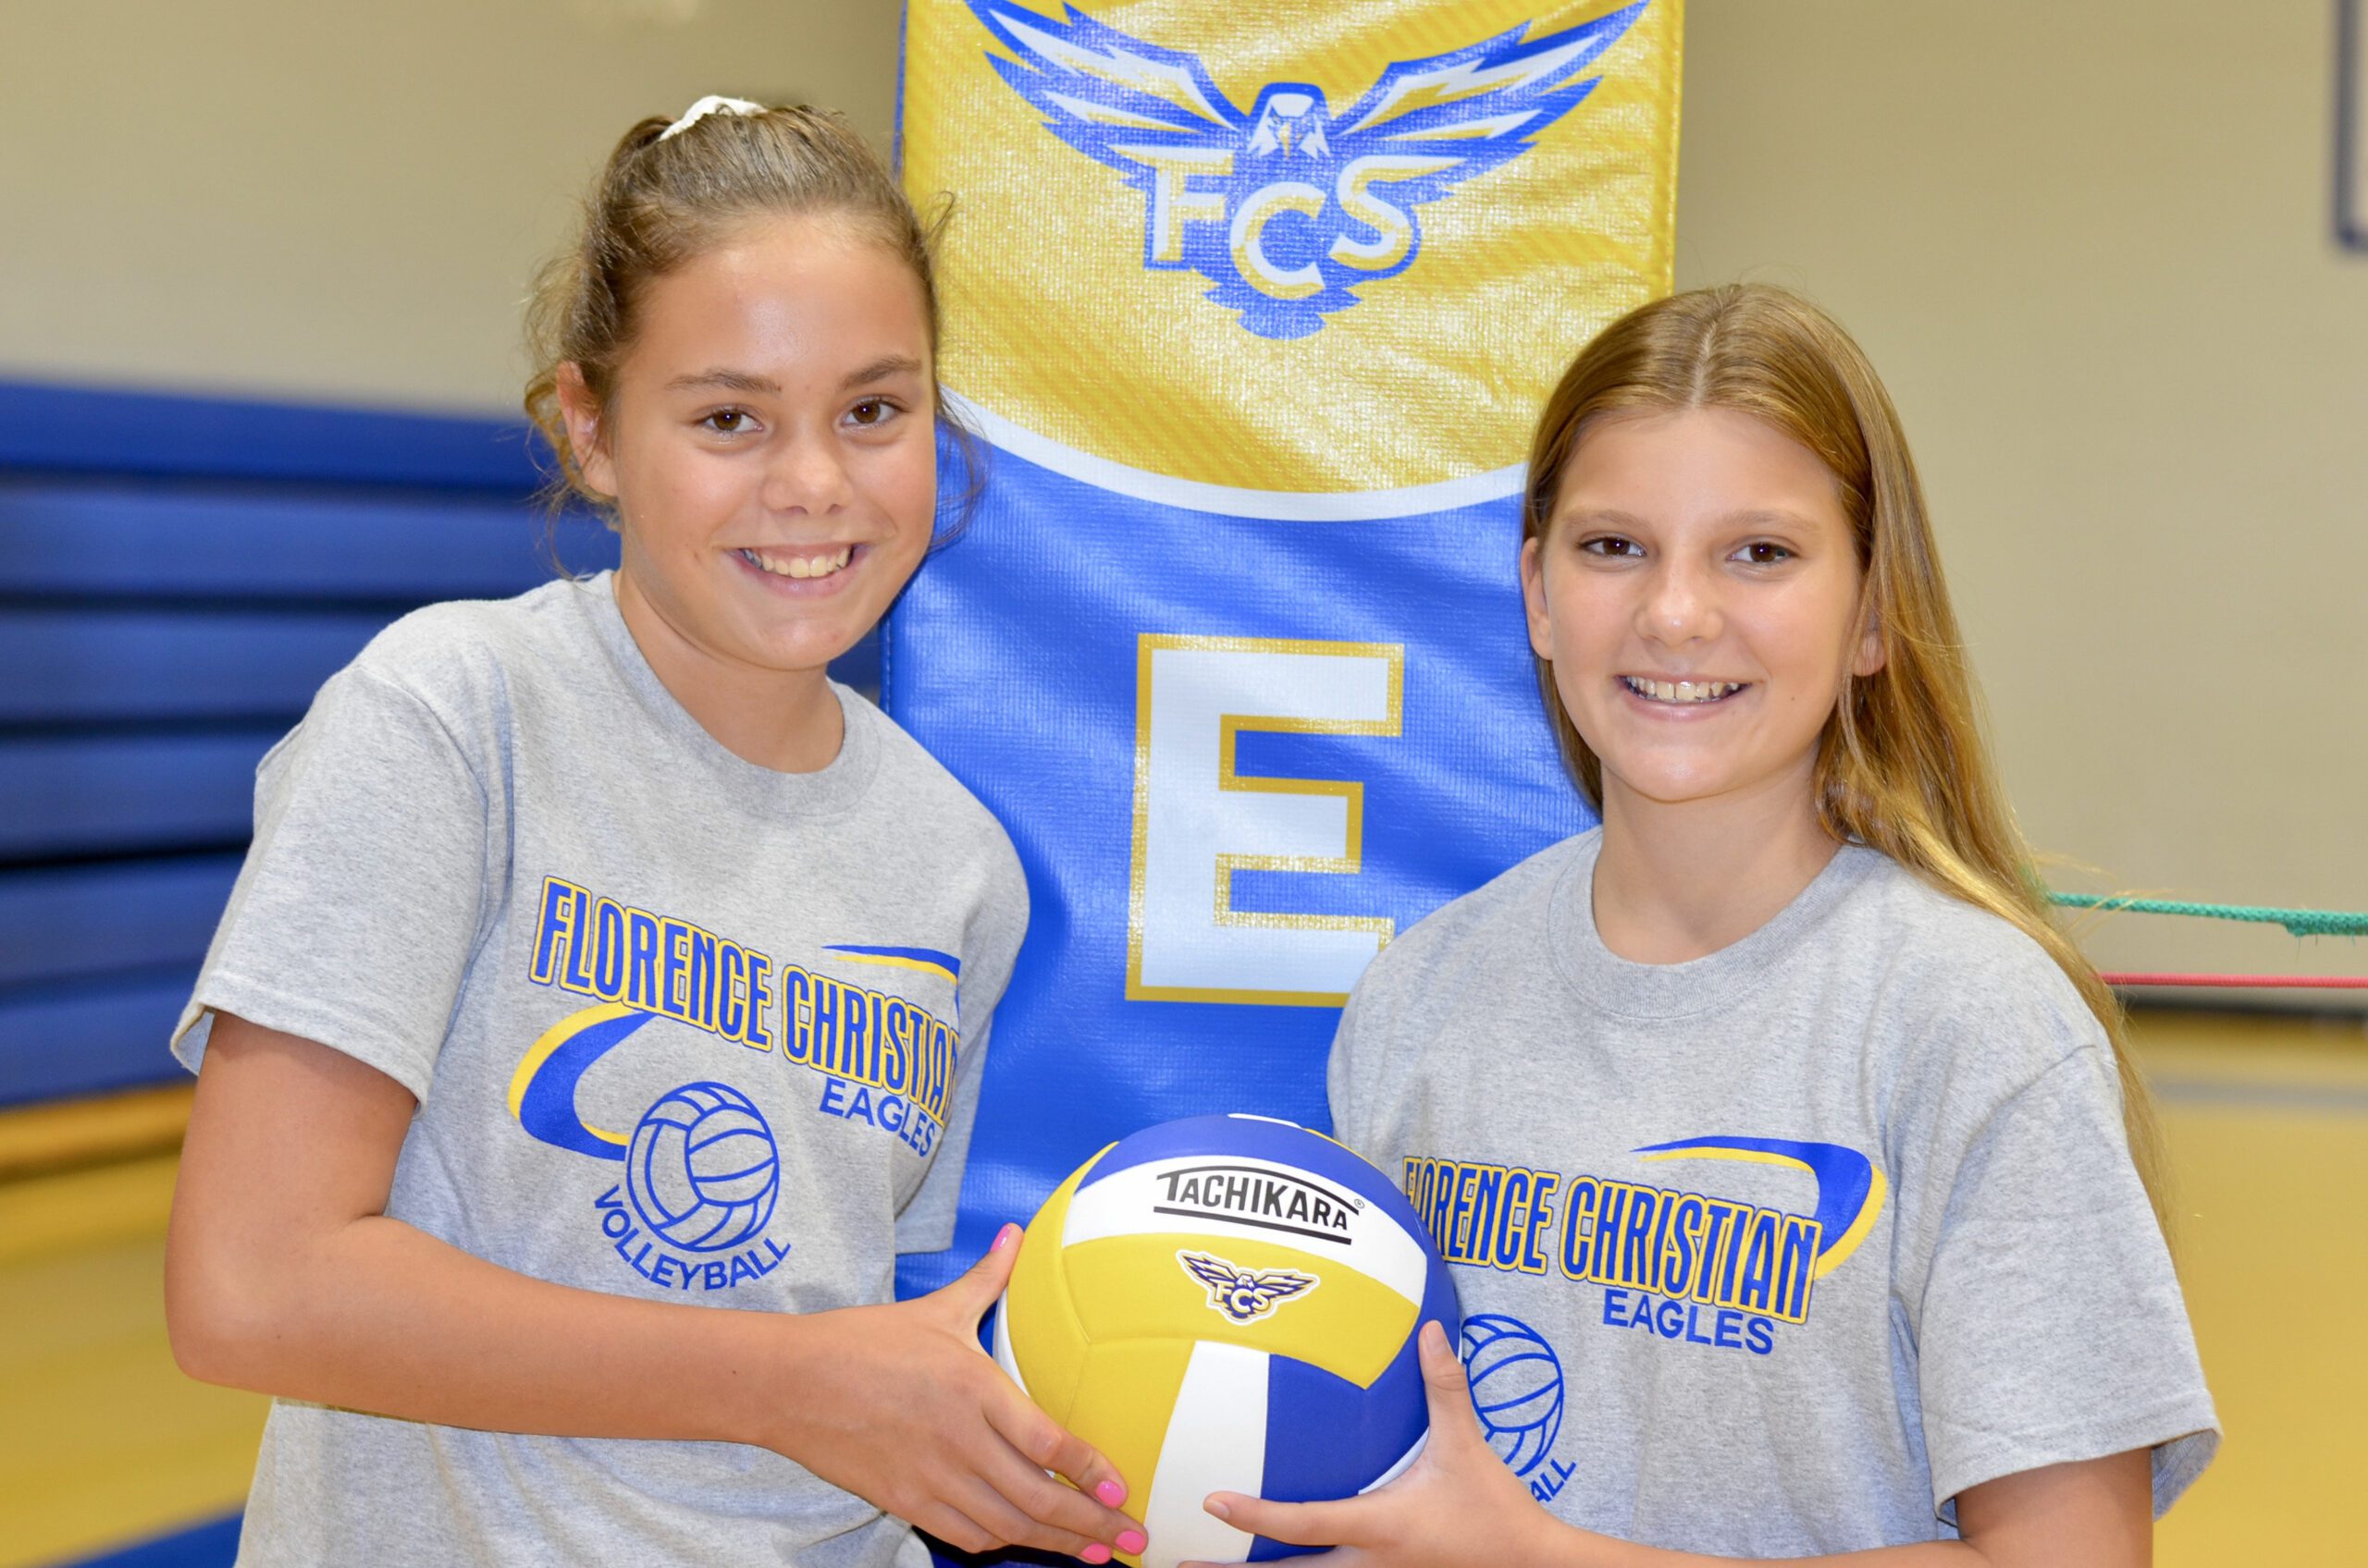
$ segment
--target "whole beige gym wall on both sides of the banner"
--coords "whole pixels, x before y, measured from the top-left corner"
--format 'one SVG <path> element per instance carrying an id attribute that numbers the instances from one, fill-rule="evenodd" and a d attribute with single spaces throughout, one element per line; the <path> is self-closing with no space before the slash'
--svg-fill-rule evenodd
<path id="1" fill-rule="evenodd" d="M 2332 36 L 2332 0 L 1688 5 L 1679 284 L 1807 289 L 1887 374 L 2079 886 L 2368 905 Z M 0 374 L 511 407 L 526 277 L 635 114 L 812 97 L 886 135 L 895 38 L 895 0 L 9 0 Z M 2093 945 L 2368 969 L 2138 917 Z"/>

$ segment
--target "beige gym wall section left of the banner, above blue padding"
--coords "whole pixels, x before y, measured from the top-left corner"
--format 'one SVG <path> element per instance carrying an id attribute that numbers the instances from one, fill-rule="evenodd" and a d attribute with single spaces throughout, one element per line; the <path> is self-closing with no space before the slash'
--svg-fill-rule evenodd
<path id="1" fill-rule="evenodd" d="M 642 114 L 843 109 L 895 0 L 0 0 L 0 374 L 514 410 L 519 301 Z"/>

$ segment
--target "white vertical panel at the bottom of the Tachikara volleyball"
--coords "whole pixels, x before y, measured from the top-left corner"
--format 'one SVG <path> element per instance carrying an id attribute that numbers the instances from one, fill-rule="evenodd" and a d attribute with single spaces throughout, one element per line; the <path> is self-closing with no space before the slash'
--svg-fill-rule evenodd
<path id="1" fill-rule="evenodd" d="M 1144 1568 L 1175 1568 L 1193 1559 L 1238 1563 L 1250 1556 L 1248 1530 L 1236 1530 L 1201 1504 L 1210 1492 L 1257 1497 L 1265 1480 L 1267 1352 L 1198 1341 L 1151 1476 L 1151 1502 L 1144 1506 L 1151 1549 Z"/>

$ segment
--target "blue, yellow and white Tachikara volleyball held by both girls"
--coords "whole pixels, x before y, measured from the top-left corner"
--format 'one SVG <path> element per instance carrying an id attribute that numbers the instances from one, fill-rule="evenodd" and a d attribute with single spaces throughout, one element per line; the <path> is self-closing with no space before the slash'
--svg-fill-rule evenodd
<path id="1" fill-rule="evenodd" d="M 1028 1225 L 995 1360 L 1141 1504 L 1146 1568 L 1293 1556 L 1212 1518 L 1217 1490 L 1366 1492 L 1423 1447 L 1416 1331 L 1454 1284 L 1390 1180 L 1265 1116 L 1146 1127 Z"/>

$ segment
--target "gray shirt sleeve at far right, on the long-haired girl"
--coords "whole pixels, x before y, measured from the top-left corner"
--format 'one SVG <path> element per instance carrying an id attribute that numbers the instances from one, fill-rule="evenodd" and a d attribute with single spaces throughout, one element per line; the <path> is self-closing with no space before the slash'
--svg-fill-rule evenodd
<path id="1" fill-rule="evenodd" d="M 2103 1042 L 1977 1130 L 1918 1300 L 1918 1402 L 1942 1518 L 1984 1480 L 2136 1447 L 2153 1450 L 2160 1516 L 2219 1447 Z"/>

